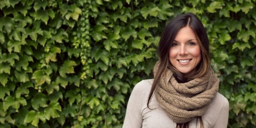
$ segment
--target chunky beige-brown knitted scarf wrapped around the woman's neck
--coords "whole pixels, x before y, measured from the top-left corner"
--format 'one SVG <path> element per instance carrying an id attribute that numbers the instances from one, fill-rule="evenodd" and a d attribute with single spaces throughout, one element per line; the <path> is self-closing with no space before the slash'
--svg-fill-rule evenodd
<path id="1" fill-rule="evenodd" d="M 154 75 L 158 66 L 159 62 L 155 64 Z M 156 85 L 155 97 L 174 122 L 185 123 L 206 112 L 218 92 L 219 82 L 212 69 L 186 83 L 178 83 L 173 72 L 167 69 Z"/>

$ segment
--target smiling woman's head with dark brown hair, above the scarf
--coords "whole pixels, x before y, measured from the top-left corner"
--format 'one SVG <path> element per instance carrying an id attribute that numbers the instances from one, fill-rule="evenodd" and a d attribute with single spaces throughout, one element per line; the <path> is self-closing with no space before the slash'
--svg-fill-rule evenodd
<path id="1" fill-rule="evenodd" d="M 159 67 L 171 68 L 179 82 L 205 74 L 210 64 L 209 40 L 202 22 L 192 13 L 172 19 L 160 39 L 159 55 Z"/>

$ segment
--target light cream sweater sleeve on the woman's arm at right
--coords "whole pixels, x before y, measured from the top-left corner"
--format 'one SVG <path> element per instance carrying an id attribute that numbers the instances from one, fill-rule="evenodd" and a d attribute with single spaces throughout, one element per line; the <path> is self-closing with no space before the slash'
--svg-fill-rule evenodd
<path id="1" fill-rule="evenodd" d="M 226 98 L 222 100 L 222 108 L 217 116 L 214 128 L 227 128 L 229 120 L 229 101 Z"/>

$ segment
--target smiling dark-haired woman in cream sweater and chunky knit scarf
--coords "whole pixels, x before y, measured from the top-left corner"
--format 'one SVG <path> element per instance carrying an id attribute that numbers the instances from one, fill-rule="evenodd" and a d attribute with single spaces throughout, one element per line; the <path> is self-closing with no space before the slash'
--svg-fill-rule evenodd
<path id="1" fill-rule="evenodd" d="M 123 128 L 227 128 L 229 102 L 218 93 L 202 22 L 182 14 L 159 42 L 154 79 L 135 85 Z"/>

